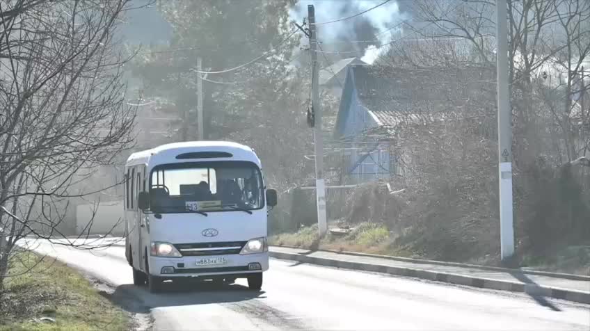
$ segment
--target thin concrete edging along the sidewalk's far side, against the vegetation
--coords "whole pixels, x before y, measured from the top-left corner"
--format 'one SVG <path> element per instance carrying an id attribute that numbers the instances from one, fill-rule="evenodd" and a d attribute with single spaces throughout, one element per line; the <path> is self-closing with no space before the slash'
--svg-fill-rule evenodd
<path id="1" fill-rule="evenodd" d="M 294 247 L 289 245 L 280 245 L 275 246 L 278 248 L 293 248 L 296 250 L 303 250 L 305 248 L 301 247 Z M 394 261 L 404 261 L 410 262 L 415 264 L 434 264 L 437 266 L 457 266 L 461 268 L 475 268 L 480 270 L 487 270 L 487 271 L 502 271 L 505 273 L 513 273 L 519 272 L 524 273 L 526 275 L 537 275 L 537 276 L 547 276 L 547 277 L 555 277 L 555 278 L 563 278 L 565 280 L 582 280 L 585 282 L 590 282 L 590 276 L 584 275 L 573 275 L 570 273 L 552 273 L 550 271 L 536 271 L 536 270 L 527 270 L 527 269 L 520 269 L 520 268 L 502 268 L 499 266 L 481 266 L 478 264 L 463 264 L 458 262 L 445 262 L 445 261 L 436 261 L 436 260 L 426 260 L 426 259 L 413 259 L 411 257 L 394 257 L 391 255 L 376 255 L 376 254 L 367 254 L 367 253 L 359 253 L 359 252 L 348 252 L 348 251 L 339 251 L 339 250 L 318 250 L 318 252 L 330 252 L 335 254 L 341 255 L 352 255 L 356 257 L 376 257 L 378 259 L 390 259 Z"/>

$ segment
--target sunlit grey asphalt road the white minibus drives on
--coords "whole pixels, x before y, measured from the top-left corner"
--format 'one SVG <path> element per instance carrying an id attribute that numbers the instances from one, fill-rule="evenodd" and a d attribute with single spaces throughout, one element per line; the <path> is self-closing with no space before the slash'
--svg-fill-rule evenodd
<path id="1" fill-rule="evenodd" d="M 35 248 L 111 284 L 125 309 L 148 309 L 155 330 L 590 330 L 587 305 L 275 259 L 260 293 L 239 280 L 154 295 L 132 284 L 122 247 Z"/>

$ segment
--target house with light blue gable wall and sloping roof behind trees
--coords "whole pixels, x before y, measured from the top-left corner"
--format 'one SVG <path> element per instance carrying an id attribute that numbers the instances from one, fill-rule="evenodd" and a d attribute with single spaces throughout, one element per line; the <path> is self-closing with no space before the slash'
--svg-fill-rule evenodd
<path id="1" fill-rule="evenodd" d="M 493 95 L 482 92 L 493 75 L 484 67 L 349 65 L 326 144 L 333 180 L 352 184 L 403 175 L 403 152 L 395 146 L 399 125 L 430 125 L 481 111 L 481 104 L 495 107 Z"/>

